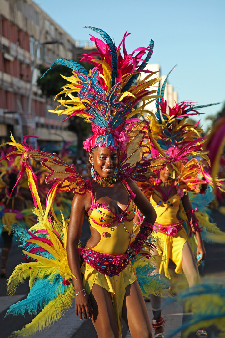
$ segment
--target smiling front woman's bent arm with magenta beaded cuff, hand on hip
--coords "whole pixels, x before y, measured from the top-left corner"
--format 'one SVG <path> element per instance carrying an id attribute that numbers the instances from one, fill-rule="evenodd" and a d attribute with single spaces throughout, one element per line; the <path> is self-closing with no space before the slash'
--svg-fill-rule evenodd
<path id="1" fill-rule="evenodd" d="M 156 211 L 154 210 L 149 200 L 144 196 L 144 194 L 141 192 L 140 188 L 134 181 L 128 179 L 126 180 L 126 182 L 128 183 L 133 193 L 136 194 L 134 199 L 135 205 L 144 216 L 142 227 L 140 227 L 140 231 L 136 239 L 132 243 L 131 247 L 128 248 L 129 254 L 133 255 L 133 257 L 135 258 L 136 254 L 140 250 L 140 247 L 142 245 L 141 243 L 146 241 L 147 237 L 150 235 L 152 231 L 153 224 L 156 221 Z M 133 252 L 133 249 L 135 250 L 136 254 Z"/>

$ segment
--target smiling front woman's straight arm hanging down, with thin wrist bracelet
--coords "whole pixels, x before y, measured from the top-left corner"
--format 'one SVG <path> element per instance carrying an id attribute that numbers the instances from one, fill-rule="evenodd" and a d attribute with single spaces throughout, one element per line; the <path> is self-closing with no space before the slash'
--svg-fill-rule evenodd
<path id="1" fill-rule="evenodd" d="M 78 252 L 78 244 L 81 236 L 85 210 L 88 210 L 88 205 L 91 205 L 91 197 L 89 193 L 74 196 L 66 241 L 66 252 L 69 267 L 73 275 L 76 276 L 76 279 L 73 277 L 75 293 L 79 292 L 75 299 L 75 311 L 77 316 L 79 314 L 80 320 L 82 320 L 82 313 L 85 320 L 87 320 L 87 315 L 89 318 L 91 317 L 91 302 L 89 295 L 82 291 L 84 290 L 84 284 L 81 277 L 80 258 Z"/>

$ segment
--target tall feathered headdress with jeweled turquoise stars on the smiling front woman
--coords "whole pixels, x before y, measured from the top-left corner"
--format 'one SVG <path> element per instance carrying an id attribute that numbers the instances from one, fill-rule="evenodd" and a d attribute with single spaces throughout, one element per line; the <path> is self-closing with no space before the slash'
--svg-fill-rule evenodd
<path id="1" fill-rule="evenodd" d="M 92 71 L 88 72 L 77 62 L 68 59 L 58 59 L 49 68 L 54 65 L 64 65 L 73 68 L 74 73 L 68 78 L 62 76 L 71 84 L 66 84 L 58 95 L 64 94 L 69 99 L 59 100 L 60 105 L 54 113 L 69 115 L 66 119 L 75 115 L 84 117 L 86 122 L 91 123 L 94 135 L 84 141 L 86 150 L 105 147 L 123 151 L 129 140 L 124 130 L 125 124 L 136 113 L 141 115 L 147 112 L 144 110 L 147 104 L 145 100 L 150 103 L 158 97 L 152 95 L 156 90 L 151 87 L 160 78 L 153 76 L 156 72 L 144 70 L 153 53 L 154 43 L 151 40 L 147 48 L 139 47 L 128 54 L 124 40 L 129 34 L 125 33 L 123 40 L 116 47 L 103 30 L 90 26 L 85 28 L 98 32 L 105 42 L 91 35 L 91 41 L 95 42 L 97 52 L 84 54 L 81 61 L 92 63 L 94 65 Z M 121 46 L 123 56 L 120 52 Z M 143 59 L 146 52 L 147 56 Z M 144 80 L 137 82 L 141 72 L 148 75 Z M 153 78 L 150 79 L 151 77 Z M 140 100 L 143 100 L 142 106 L 135 109 L 134 106 Z M 65 108 L 58 110 L 61 106 Z"/>

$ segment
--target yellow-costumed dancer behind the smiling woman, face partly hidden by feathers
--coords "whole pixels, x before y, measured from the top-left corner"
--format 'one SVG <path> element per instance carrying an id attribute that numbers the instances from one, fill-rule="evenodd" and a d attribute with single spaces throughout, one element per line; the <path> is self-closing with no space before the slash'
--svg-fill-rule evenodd
<path id="1" fill-rule="evenodd" d="M 156 104 L 157 119 L 151 119 L 150 126 L 152 135 L 164 151 L 173 156 L 187 146 L 187 143 L 191 144 L 200 137 L 202 129 L 197 124 L 189 123 L 187 118 L 199 114 L 197 109 L 204 106 L 197 107 L 191 102 L 180 102 L 173 108 L 169 107 L 163 99 L 167 78 L 168 76 L 161 91 L 159 86 L 158 94 L 161 94 L 162 97 Z M 194 152 L 192 154 L 194 155 Z M 206 159 L 204 152 L 202 152 L 202 157 Z M 200 176 L 201 178 L 199 178 Z M 206 233 L 222 234 L 215 224 L 210 223 L 205 212 L 207 204 L 214 199 L 212 187 L 208 187 L 206 193 L 201 195 L 204 197 L 201 199 L 200 211 L 193 208 L 189 198 L 190 192 L 191 200 L 195 203 L 196 196 L 200 193 L 201 184 L 207 183 L 206 181 L 211 186 L 213 185 L 213 180 L 209 179 L 209 174 L 205 172 L 202 163 L 196 158 L 192 158 L 188 163 L 176 164 L 173 178 L 166 167 L 160 171 L 159 176 L 151 178 L 148 182 L 138 183 L 157 213 L 152 237 L 158 243 L 154 254 L 159 255 L 162 260 L 160 265 L 156 266 L 155 271 L 163 273 L 170 279 L 171 275 L 168 270 L 170 259 L 175 264 L 175 273 L 182 274 L 184 272 L 189 287 L 200 282 L 195 257 L 197 257 L 197 262 L 203 261 L 206 257 L 201 231 L 204 228 Z M 139 218 L 142 220 L 140 214 Z M 152 326 L 155 329 L 154 337 L 164 338 L 161 297 L 151 294 L 150 299 L 153 311 Z M 198 337 L 207 336 L 204 330 L 198 330 L 196 334 Z"/>

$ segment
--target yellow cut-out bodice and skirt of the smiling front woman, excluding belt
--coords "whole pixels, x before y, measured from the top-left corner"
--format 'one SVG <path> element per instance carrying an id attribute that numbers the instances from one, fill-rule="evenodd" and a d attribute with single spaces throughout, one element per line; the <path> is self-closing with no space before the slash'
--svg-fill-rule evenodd
<path id="1" fill-rule="evenodd" d="M 89 222 L 101 235 L 100 242 L 91 249 L 96 251 L 96 254 L 93 255 L 94 258 L 98 256 L 97 253 L 99 252 L 105 255 L 123 255 L 130 244 L 134 226 L 135 204 L 128 190 L 129 187 L 125 186 L 126 182 L 123 181 L 122 184 L 129 193 L 129 201 L 120 215 L 111 211 L 106 204 L 96 203 L 93 193 L 90 191 L 93 209 L 89 216 Z M 107 269 L 107 265 L 105 269 Z M 84 275 L 83 283 L 88 293 L 90 293 L 93 284 L 100 285 L 110 292 L 118 331 L 121 337 L 121 317 L 125 288 L 136 280 L 133 265 L 129 262 L 125 269 L 119 274 L 109 276 L 96 270 L 87 262 L 83 262 L 81 265 L 81 273 Z"/>

